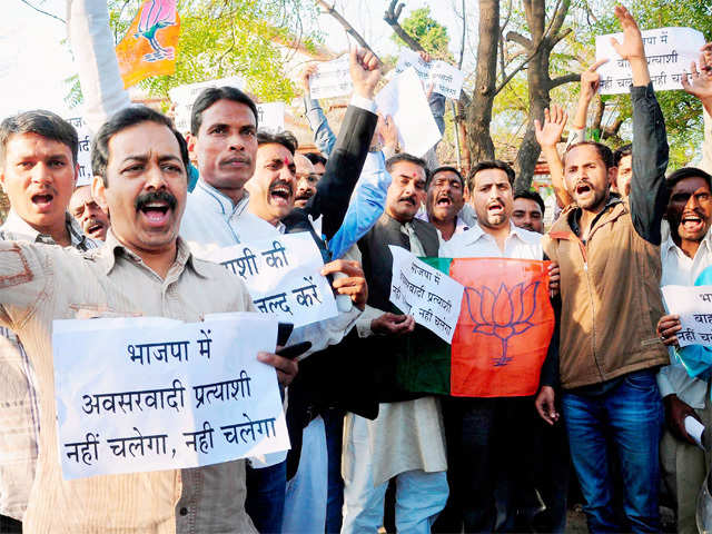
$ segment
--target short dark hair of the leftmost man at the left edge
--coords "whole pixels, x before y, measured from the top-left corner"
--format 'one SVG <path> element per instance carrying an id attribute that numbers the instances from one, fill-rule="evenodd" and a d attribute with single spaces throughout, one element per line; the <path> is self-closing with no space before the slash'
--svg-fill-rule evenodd
<path id="1" fill-rule="evenodd" d="M 43 109 L 24 111 L 8 117 L 0 123 L 0 164 L 4 165 L 6 149 L 10 137 L 21 134 L 37 134 L 67 145 L 71 150 L 72 162 L 77 164 L 79 152 L 77 130 L 59 115 Z"/>

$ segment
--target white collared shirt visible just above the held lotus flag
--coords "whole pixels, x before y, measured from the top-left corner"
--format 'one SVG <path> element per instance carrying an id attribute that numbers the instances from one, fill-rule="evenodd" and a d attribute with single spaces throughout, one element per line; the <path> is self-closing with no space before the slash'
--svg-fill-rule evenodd
<path id="1" fill-rule="evenodd" d="M 504 241 L 504 251 L 495 238 L 476 224 L 467 231 L 453 236 L 441 246 L 441 257 L 445 258 L 517 258 L 542 259 L 542 235 L 517 228 L 510 221 L 510 235 Z"/>

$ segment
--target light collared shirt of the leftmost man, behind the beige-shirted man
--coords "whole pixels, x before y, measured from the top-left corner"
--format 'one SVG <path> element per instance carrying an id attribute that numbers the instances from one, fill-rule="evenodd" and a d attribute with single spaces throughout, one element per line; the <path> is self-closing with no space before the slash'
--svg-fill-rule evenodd
<path id="1" fill-rule="evenodd" d="M 89 250 L 98 245 L 66 214 L 71 246 Z M 0 239 L 55 245 L 10 209 Z M 40 433 L 34 373 L 14 332 L 0 328 L 0 513 L 21 520 L 34 479 Z"/>

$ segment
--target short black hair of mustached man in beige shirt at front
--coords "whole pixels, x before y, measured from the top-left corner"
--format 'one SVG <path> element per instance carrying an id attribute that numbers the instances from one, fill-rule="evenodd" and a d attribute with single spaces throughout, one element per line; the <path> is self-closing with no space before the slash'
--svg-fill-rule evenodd
<path id="1" fill-rule="evenodd" d="M 109 179 L 107 176 L 109 141 L 121 130 L 135 125 L 140 125 L 141 122 L 155 122 L 170 129 L 178 141 L 180 159 L 182 159 L 182 165 L 186 167 L 186 179 L 188 178 L 188 167 L 190 166 L 188 145 L 186 144 L 186 139 L 174 127 L 172 120 L 146 106 L 130 106 L 111 116 L 111 118 L 107 120 L 101 128 L 99 128 L 99 131 L 91 144 L 91 172 L 95 176 L 101 177 L 105 187 L 109 187 Z"/>

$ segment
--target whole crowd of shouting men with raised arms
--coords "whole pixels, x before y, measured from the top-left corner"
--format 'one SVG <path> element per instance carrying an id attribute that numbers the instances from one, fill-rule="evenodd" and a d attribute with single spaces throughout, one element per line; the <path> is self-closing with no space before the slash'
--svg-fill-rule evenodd
<path id="1" fill-rule="evenodd" d="M 683 82 L 705 112 L 702 165 L 666 176 L 641 32 L 616 7 L 632 145 L 585 140 L 596 63 L 582 75 L 563 155 L 567 115 L 553 105 L 536 125 L 561 209 L 545 233 L 542 197 L 515 192 L 510 165 L 478 161 L 464 176 L 434 165 L 434 154 L 399 150 L 393 119 L 375 112 L 382 72 L 372 53 L 350 52 L 354 96 L 338 135 L 305 73 L 319 152 L 260 130 L 255 102 L 230 87 L 197 97 L 186 136 L 129 101 L 100 3 L 69 2 L 96 131 L 91 185 L 75 187 L 78 138 L 67 121 L 36 110 L 0 123 L 11 205 L 0 227 L 2 532 L 564 532 L 570 462 L 592 532 L 660 532 L 661 488 L 678 531 L 698 532 L 709 462 L 685 417 L 712 424 L 709 375 L 690 376 L 676 357 L 680 322 L 660 287 L 691 286 L 712 264 L 712 43 Z M 437 116 L 443 98 L 429 99 Z M 298 365 L 257 355 L 284 388 L 291 449 L 63 479 L 52 320 L 254 312 L 240 279 L 200 258 L 305 231 L 350 305 L 294 330 L 288 345 L 310 343 Z M 393 355 L 422 327 L 389 301 L 394 245 L 426 257 L 552 261 L 556 327 L 535 396 L 396 387 Z"/>

